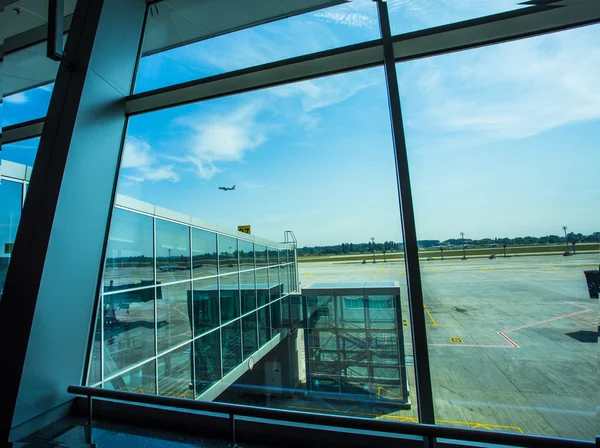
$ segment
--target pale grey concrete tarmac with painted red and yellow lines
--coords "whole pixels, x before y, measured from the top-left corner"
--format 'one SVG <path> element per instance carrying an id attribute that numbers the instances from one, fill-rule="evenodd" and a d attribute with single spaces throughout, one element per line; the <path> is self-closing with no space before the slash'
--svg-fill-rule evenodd
<path id="1" fill-rule="evenodd" d="M 598 301 L 583 271 L 598 261 L 583 254 L 421 262 L 438 424 L 595 438 Z M 299 274 L 301 286 L 400 282 L 413 407 L 372 417 L 416 421 L 404 263 L 300 263 Z"/>

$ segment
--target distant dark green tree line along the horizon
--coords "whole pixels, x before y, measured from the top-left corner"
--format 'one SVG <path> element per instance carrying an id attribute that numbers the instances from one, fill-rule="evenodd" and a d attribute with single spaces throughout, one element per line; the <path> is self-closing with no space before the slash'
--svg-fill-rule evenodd
<path id="1" fill-rule="evenodd" d="M 594 232 L 591 235 L 583 235 L 581 233 L 568 233 L 567 241 L 575 243 L 600 243 L 600 232 Z M 450 238 L 444 241 L 441 240 L 418 240 L 420 249 L 437 249 L 462 247 L 463 240 L 461 238 Z M 530 246 L 543 244 L 565 244 L 565 237 L 559 235 L 546 235 L 541 237 L 525 236 L 516 238 L 482 238 L 480 240 L 464 239 L 464 244 L 468 247 L 502 247 L 507 246 Z M 299 256 L 318 256 L 318 255 L 344 255 L 344 254 L 364 254 L 364 253 L 382 253 L 404 250 L 403 243 L 394 241 L 384 241 L 383 243 L 341 243 L 331 246 L 304 246 L 298 248 Z"/>

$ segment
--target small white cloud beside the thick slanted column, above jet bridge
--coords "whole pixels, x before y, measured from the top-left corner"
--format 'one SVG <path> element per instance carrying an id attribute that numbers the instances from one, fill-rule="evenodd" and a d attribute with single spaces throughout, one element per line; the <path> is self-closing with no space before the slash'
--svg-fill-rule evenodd
<path id="1" fill-rule="evenodd" d="M 173 165 L 159 165 L 152 147 L 143 140 L 127 137 L 121 160 L 123 176 L 134 182 L 168 180 L 178 182 L 180 177 Z"/>

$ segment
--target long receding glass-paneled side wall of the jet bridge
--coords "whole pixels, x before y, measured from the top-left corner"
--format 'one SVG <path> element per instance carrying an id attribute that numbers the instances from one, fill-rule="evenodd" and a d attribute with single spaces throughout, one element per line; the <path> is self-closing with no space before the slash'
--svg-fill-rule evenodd
<path id="1" fill-rule="evenodd" d="M 248 238 L 116 206 L 88 384 L 212 400 L 247 371 L 298 284 L 291 246 Z"/>

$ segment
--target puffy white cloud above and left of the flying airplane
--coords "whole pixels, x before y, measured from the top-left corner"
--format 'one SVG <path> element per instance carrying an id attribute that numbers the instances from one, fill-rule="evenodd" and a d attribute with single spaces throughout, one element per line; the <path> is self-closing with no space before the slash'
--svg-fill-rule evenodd
<path id="1" fill-rule="evenodd" d="M 176 123 L 188 128 L 191 135 L 187 156 L 177 159 L 194 165 L 198 176 L 211 179 L 220 171 L 220 162 L 240 162 L 248 151 L 266 140 L 266 130 L 256 117 L 261 106 L 248 103 L 226 114 L 187 116 Z"/>

